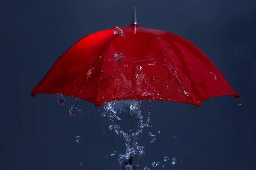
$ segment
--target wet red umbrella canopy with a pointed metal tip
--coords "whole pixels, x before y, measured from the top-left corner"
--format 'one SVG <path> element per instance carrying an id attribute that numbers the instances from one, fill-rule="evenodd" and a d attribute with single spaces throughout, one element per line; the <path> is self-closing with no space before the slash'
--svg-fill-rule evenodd
<path id="1" fill-rule="evenodd" d="M 210 59 L 183 37 L 134 23 L 90 34 L 71 46 L 32 89 L 99 106 L 114 100 L 190 103 L 240 98 Z"/>

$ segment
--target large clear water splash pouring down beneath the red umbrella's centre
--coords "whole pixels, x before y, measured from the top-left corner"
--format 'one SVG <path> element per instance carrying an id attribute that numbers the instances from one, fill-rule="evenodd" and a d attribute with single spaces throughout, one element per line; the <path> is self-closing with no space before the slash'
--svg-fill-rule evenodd
<path id="1" fill-rule="evenodd" d="M 141 112 L 142 100 L 122 100 L 105 102 L 104 117 L 107 117 L 111 125 L 110 130 L 114 130 L 119 136 L 125 138 L 126 153 L 119 154 L 119 162 L 122 163 L 124 159 L 129 159 L 131 156 L 138 154 L 142 156 L 144 147 L 138 145 L 138 136 L 145 128 L 143 124 L 143 115 Z M 150 102 L 151 106 L 151 102 Z M 147 127 L 151 127 L 150 115 L 152 106 L 148 112 L 148 119 L 146 120 Z M 122 118 L 122 119 L 121 119 Z"/>

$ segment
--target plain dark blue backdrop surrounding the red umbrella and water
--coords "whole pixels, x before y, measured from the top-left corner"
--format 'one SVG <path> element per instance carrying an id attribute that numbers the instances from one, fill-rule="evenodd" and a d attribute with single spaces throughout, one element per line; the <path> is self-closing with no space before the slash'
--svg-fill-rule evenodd
<path id="1" fill-rule="evenodd" d="M 135 156 L 135 163 L 151 167 L 152 161 L 175 156 L 177 164 L 166 163 L 166 169 L 256 169 L 255 1 L 1 0 L 1 170 L 119 169 L 117 156 L 105 155 L 125 153 L 124 140 L 108 130 L 93 104 L 81 101 L 84 117 L 70 117 L 71 97 L 62 106 L 55 95 L 32 100 L 30 92 L 81 37 L 129 25 L 134 5 L 141 26 L 193 42 L 242 98 L 241 107 L 233 96 L 208 99 L 197 111 L 153 101 L 152 132 L 161 133 L 153 143 L 142 135 L 146 155 Z M 76 135 L 82 136 L 80 146 Z"/>

